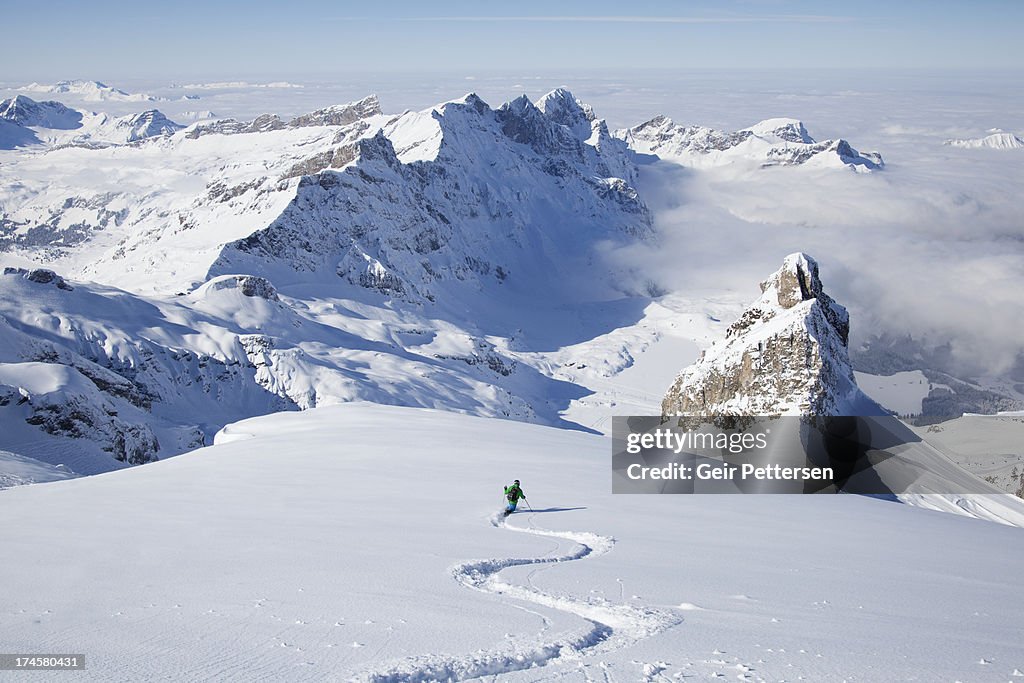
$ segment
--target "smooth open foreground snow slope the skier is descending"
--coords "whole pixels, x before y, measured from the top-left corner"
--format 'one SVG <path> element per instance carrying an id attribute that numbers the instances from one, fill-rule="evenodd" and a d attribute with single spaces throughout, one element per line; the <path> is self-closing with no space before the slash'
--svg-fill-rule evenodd
<path id="1" fill-rule="evenodd" d="M 218 443 L 0 494 L 5 646 L 85 652 L 98 680 L 1024 669 L 1018 528 L 856 496 L 612 496 L 604 438 L 434 411 L 282 414 Z M 513 478 L 532 511 L 503 524 Z"/>

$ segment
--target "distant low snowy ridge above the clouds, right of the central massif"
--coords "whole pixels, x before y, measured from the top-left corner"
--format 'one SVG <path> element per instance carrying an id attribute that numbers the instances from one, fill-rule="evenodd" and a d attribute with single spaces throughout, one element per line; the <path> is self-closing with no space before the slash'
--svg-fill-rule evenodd
<path id="1" fill-rule="evenodd" d="M 638 153 L 697 168 L 807 166 L 863 173 L 884 166 L 881 155 L 857 152 L 844 139 L 816 141 L 796 119 L 768 119 L 730 133 L 658 116 L 615 135 Z"/>

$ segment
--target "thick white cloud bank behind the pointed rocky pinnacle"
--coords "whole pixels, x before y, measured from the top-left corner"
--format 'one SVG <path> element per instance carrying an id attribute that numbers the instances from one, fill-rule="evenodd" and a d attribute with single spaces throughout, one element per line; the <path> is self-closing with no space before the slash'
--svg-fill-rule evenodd
<path id="1" fill-rule="evenodd" d="M 805 251 L 850 308 L 855 344 L 911 335 L 948 343 L 950 371 L 1006 375 L 1024 348 L 1021 160 L 933 161 L 867 176 L 657 162 L 640 189 L 658 242 L 613 258 L 670 291 L 754 298 L 785 254 Z"/>

